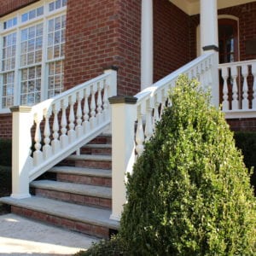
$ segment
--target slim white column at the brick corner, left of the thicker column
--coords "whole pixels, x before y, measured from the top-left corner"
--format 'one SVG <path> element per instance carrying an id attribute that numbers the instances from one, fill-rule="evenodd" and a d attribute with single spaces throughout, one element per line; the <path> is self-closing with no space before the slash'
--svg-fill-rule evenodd
<path id="1" fill-rule="evenodd" d="M 153 0 L 142 0 L 141 89 L 153 84 Z"/>

